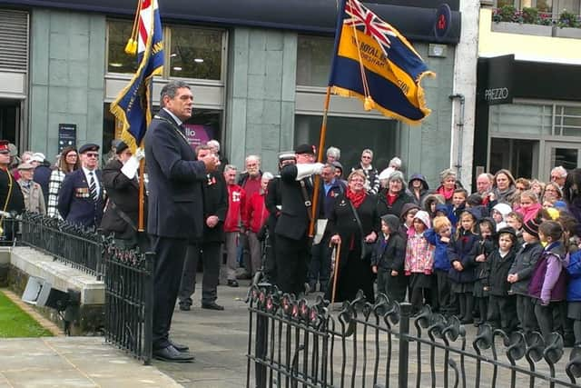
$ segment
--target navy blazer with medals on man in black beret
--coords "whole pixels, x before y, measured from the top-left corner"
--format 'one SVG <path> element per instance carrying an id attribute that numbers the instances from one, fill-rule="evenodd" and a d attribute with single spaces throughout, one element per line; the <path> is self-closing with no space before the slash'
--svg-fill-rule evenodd
<path id="1" fill-rule="evenodd" d="M 92 228 L 101 224 L 103 218 L 103 177 L 100 170 L 94 171 L 99 181 L 97 201 L 91 198 L 89 184 L 82 168 L 64 177 L 58 192 L 58 212 L 70 224 Z"/>

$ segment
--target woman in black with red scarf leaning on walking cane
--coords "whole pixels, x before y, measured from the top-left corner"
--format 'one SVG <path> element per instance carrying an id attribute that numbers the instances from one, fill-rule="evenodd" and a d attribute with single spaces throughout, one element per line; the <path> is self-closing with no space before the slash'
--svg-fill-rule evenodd
<path id="1" fill-rule="evenodd" d="M 337 197 L 330 213 L 330 243 L 340 244 L 337 302 L 353 300 L 359 290 L 370 303 L 375 301 L 370 256 L 379 234 L 379 214 L 375 195 L 365 191 L 365 179 L 361 171 L 352 172 L 347 190 Z"/>

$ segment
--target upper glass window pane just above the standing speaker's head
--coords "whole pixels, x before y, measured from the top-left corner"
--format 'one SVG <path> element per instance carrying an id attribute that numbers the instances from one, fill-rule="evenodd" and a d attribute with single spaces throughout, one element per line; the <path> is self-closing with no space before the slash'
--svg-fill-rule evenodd
<path id="1" fill-rule="evenodd" d="M 222 79 L 222 31 L 171 27 L 170 76 Z"/>

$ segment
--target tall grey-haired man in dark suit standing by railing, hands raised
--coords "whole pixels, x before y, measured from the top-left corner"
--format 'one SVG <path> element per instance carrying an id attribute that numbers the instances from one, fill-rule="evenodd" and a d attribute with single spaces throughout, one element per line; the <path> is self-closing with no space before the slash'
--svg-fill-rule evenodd
<path id="1" fill-rule="evenodd" d="M 147 232 L 156 254 L 153 274 L 153 357 L 191 362 L 188 347 L 169 338 L 189 240 L 202 238 L 202 184 L 216 168 L 216 156 L 196 160 L 183 122 L 192 116 L 190 86 L 172 81 L 163 86 L 162 109 L 145 134 L 149 175 Z"/>

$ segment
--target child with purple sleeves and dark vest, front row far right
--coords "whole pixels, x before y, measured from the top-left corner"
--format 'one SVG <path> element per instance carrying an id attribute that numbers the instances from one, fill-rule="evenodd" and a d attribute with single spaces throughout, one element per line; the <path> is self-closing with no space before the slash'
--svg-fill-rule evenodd
<path id="1" fill-rule="evenodd" d="M 553 307 L 566 300 L 566 252 L 562 242 L 563 228 L 556 221 L 538 226 L 538 237 L 547 243 L 535 265 L 528 293 L 534 299 L 535 316 L 545 338 L 554 331 Z"/>

